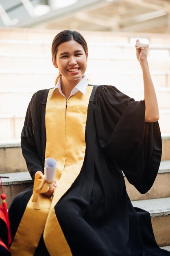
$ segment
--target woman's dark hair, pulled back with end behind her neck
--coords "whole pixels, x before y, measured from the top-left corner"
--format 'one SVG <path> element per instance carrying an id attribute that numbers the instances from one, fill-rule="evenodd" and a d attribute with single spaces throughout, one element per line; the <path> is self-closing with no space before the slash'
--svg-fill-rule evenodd
<path id="1" fill-rule="evenodd" d="M 55 37 L 54 40 L 52 41 L 52 46 L 51 46 L 51 53 L 52 57 L 54 58 L 54 61 L 56 61 L 56 54 L 57 54 L 57 47 L 64 42 L 70 41 L 70 40 L 75 40 L 77 43 L 82 45 L 85 54 L 87 56 L 88 54 L 88 47 L 87 43 L 85 41 L 85 38 L 78 32 L 78 31 L 72 31 L 72 30 L 63 30 L 59 32 Z M 57 76 L 57 79 L 55 81 L 55 85 L 57 84 L 61 74 Z"/>

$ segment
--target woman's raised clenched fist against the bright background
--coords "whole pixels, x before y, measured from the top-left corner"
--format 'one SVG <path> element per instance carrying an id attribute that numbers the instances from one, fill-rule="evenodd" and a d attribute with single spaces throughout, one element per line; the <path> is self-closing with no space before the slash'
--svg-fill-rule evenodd
<path id="1" fill-rule="evenodd" d="M 140 43 L 139 39 L 137 39 L 135 47 L 136 47 L 136 56 L 139 63 L 147 61 L 149 45 Z"/>

